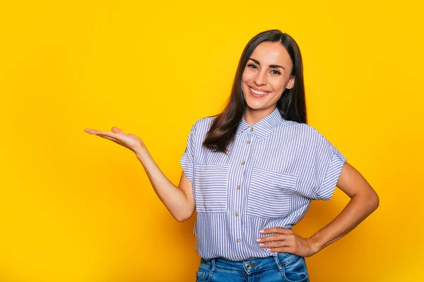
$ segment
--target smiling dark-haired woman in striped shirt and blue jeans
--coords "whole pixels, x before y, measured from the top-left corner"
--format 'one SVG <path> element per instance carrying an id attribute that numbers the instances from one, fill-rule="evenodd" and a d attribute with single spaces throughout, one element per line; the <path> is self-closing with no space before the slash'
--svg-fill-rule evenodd
<path id="1" fill-rule="evenodd" d="M 223 112 L 194 124 L 178 187 L 136 135 L 86 132 L 131 149 L 177 221 L 196 209 L 197 281 L 309 281 L 304 257 L 346 235 L 379 199 L 306 122 L 298 44 L 269 30 L 245 47 Z M 294 233 L 311 200 L 329 200 L 336 185 L 351 197 L 346 208 L 310 238 Z"/>

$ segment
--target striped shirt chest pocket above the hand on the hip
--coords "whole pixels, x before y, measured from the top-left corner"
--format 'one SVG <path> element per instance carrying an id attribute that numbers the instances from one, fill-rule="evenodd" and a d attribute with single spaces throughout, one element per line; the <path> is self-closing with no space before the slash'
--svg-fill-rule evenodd
<path id="1" fill-rule="evenodd" d="M 253 168 L 247 214 L 265 219 L 287 216 L 290 212 L 290 196 L 295 192 L 297 182 L 297 176 Z"/>

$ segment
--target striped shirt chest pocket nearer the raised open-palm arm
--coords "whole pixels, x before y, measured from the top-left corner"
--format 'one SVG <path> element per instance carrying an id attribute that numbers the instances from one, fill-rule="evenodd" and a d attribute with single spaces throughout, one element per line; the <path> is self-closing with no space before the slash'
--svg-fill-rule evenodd
<path id="1" fill-rule="evenodd" d="M 197 212 L 226 212 L 228 164 L 194 164 L 193 192 Z"/>

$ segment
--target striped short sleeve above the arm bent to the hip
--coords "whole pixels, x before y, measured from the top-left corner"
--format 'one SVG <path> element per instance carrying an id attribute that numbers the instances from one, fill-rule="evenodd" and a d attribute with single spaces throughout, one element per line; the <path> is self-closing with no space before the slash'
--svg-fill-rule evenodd
<path id="1" fill-rule="evenodd" d="M 329 140 L 317 133 L 314 152 L 314 200 L 330 200 L 336 188 L 346 157 Z"/>

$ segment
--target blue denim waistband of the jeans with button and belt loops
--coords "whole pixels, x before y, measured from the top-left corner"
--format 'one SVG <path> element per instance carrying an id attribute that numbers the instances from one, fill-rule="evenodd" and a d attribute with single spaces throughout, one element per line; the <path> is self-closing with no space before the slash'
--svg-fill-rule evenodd
<path id="1" fill-rule="evenodd" d="M 282 270 L 284 264 L 287 264 L 296 258 L 298 258 L 298 256 L 281 252 L 278 253 L 276 257 L 252 258 L 241 262 L 232 262 L 221 257 L 216 259 L 202 258 L 200 263 L 211 266 L 212 271 L 215 271 L 215 269 L 227 269 L 232 271 L 246 271 L 247 273 L 252 273 L 255 271 L 271 269 L 273 267 L 277 267 L 279 270 Z"/>

